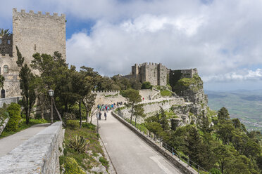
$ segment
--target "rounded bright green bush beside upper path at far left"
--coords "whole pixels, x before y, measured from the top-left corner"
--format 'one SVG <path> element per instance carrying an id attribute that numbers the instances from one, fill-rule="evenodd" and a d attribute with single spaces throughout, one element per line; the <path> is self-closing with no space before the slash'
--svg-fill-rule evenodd
<path id="1" fill-rule="evenodd" d="M 18 123 L 21 120 L 21 107 L 16 103 L 11 103 L 6 109 L 6 112 L 9 114 L 9 121 L 6 124 L 7 131 L 15 131 L 18 129 Z"/>

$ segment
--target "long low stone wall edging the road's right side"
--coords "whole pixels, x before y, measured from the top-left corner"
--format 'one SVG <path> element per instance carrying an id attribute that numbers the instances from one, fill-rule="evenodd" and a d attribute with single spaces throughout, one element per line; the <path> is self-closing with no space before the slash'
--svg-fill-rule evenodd
<path id="1" fill-rule="evenodd" d="M 112 115 L 115 116 L 116 119 L 118 119 L 125 126 L 127 126 L 127 128 L 130 128 L 131 131 L 133 131 L 135 134 L 137 134 L 139 136 L 139 138 L 142 138 L 142 140 L 144 140 L 148 145 L 150 145 L 151 147 L 156 149 L 156 151 L 158 151 L 163 156 L 165 156 L 166 159 L 168 159 L 168 161 L 170 161 L 177 168 L 179 168 L 182 171 L 182 173 L 186 173 L 186 174 L 196 174 L 197 173 L 196 170 L 194 170 L 190 166 L 187 166 L 187 163 L 180 161 L 180 159 L 177 158 L 177 156 L 173 156 L 170 152 L 166 151 L 166 149 L 164 149 L 163 147 L 158 145 L 156 142 L 150 140 L 146 135 L 144 135 L 144 133 L 141 133 L 137 128 L 135 128 L 135 126 L 132 126 L 130 123 L 127 123 L 127 121 L 122 119 L 120 116 L 118 116 L 114 112 L 112 112 Z"/>

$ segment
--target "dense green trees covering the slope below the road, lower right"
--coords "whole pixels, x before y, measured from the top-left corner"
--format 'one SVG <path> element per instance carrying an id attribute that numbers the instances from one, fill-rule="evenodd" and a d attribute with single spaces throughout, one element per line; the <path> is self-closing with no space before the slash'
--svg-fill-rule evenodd
<path id="1" fill-rule="evenodd" d="M 212 113 L 213 114 L 213 113 Z M 248 132 L 238 119 L 230 119 L 225 107 L 211 124 L 207 117 L 194 123 L 171 128 L 167 112 L 145 119 L 146 128 L 158 139 L 198 163 L 206 170 L 220 173 L 261 173 L 261 136 Z"/>

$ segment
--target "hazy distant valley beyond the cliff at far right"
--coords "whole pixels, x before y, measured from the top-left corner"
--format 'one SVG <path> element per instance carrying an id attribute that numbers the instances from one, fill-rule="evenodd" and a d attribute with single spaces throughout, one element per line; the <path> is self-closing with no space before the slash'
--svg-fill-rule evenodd
<path id="1" fill-rule="evenodd" d="M 262 90 L 256 91 L 205 91 L 208 106 L 213 110 L 226 107 L 230 117 L 239 118 L 249 131 L 262 132 Z"/>

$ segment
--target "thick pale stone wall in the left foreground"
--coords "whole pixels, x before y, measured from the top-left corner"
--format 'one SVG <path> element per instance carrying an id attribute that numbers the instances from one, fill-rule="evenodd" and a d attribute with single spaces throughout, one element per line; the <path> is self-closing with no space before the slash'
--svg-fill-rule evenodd
<path id="1" fill-rule="evenodd" d="M 0 173 L 60 173 L 62 122 L 56 122 L 0 158 Z"/>

